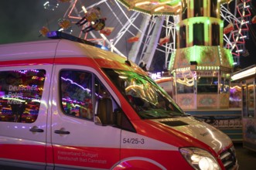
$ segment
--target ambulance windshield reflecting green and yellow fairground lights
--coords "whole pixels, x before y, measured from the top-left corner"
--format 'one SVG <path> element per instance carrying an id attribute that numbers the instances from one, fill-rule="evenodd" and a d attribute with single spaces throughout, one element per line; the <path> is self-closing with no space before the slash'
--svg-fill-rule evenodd
<path id="1" fill-rule="evenodd" d="M 186 116 L 183 110 L 148 76 L 104 69 L 108 77 L 143 119 Z"/>

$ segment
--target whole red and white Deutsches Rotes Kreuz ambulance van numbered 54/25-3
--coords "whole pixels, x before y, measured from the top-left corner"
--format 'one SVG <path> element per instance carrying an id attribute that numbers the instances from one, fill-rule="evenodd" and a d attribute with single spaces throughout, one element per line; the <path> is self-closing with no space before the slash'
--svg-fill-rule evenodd
<path id="1" fill-rule="evenodd" d="M 230 138 L 135 63 L 49 36 L 0 46 L 0 169 L 238 168 Z"/>

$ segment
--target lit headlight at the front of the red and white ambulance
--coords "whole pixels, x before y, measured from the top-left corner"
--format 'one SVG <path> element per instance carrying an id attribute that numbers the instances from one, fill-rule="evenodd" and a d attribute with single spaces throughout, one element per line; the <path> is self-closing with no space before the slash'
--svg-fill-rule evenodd
<path id="1" fill-rule="evenodd" d="M 218 170 L 220 165 L 208 151 L 200 148 L 180 148 L 180 153 L 189 164 L 200 170 Z"/>

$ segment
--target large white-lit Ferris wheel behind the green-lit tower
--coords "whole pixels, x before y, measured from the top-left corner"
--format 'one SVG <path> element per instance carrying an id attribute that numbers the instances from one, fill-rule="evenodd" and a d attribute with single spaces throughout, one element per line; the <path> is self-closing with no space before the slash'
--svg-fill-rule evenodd
<path id="1" fill-rule="evenodd" d="M 198 2 L 210 4 L 206 0 Z M 50 0 L 44 7 L 57 10 L 63 4 L 68 7 L 61 20 L 70 22 L 67 26 L 60 26 L 63 32 L 108 46 L 114 53 L 129 56 L 135 63 L 146 63 L 147 70 L 151 71 L 167 70 L 171 54 L 176 51 L 179 15 L 186 12 L 186 6 L 183 7 L 186 1 L 181 0 Z M 239 57 L 246 55 L 244 39 L 248 34 L 247 20 L 251 17 L 250 4 L 251 1 L 238 0 L 220 3 L 220 17 L 224 19 L 224 47 L 232 50 L 237 65 Z M 106 28 L 102 32 L 83 34 L 82 28 L 78 29 L 74 23 L 93 7 L 100 7 L 101 14 L 108 19 Z"/>

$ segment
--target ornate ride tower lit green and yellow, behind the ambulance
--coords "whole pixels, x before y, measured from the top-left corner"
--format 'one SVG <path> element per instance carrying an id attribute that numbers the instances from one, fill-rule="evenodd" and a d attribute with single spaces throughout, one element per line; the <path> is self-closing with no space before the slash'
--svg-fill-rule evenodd
<path id="1" fill-rule="evenodd" d="M 220 4 L 228 1 L 193 0 L 183 8 L 172 53 L 173 97 L 184 109 L 228 108 L 233 56 L 224 48 Z"/>

